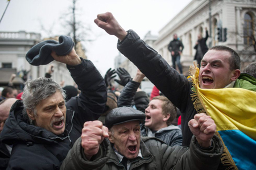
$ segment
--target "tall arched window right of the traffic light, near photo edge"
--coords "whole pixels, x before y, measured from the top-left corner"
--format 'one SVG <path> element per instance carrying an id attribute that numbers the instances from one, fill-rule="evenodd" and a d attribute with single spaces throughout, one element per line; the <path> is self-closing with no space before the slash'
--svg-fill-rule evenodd
<path id="1" fill-rule="evenodd" d="M 253 17 L 249 14 L 245 14 L 245 24 L 243 24 L 243 43 L 253 44 L 252 36 L 254 34 Z"/>

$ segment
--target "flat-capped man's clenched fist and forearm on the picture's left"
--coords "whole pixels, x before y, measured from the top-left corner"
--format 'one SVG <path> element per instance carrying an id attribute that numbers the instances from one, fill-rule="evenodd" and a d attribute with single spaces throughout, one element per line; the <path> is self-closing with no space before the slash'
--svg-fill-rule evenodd
<path id="1" fill-rule="evenodd" d="M 72 170 L 75 168 L 83 170 L 102 168 L 109 158 L 109 153 L 106 154 L 106 150 L 109 152 L 110 147 L 101 150 L 100 145 L 108 136 L 108 127 L 103 126 L 102 122 L 85 122 L 81 138 L 76 140 L 60 169 Z M 105 143 L 108 142 L 105 140 Z M 97 162 L 93 161 L 96 159 L 98 160 Z"/>

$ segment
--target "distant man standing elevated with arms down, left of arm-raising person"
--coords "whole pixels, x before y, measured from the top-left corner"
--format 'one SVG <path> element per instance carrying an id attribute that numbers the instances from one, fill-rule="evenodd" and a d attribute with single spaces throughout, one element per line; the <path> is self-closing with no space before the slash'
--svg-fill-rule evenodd
<path id="1" fill-rule="evenodd" d="M 174 40 L 172 40 L 168 45 L 168 50 L 171 52 L 171 56 L 172 56 L 172 67 L 176 69 L 176 63 L 177 63 L 180 70 L 180 74 L 183 73 L 182 65 L 180 64 L 180 54 L 183 51 L 183 48 L 184 48 L 184 45 L 180 40 L 177 39 L 177 34 L 174 34 Z"/>

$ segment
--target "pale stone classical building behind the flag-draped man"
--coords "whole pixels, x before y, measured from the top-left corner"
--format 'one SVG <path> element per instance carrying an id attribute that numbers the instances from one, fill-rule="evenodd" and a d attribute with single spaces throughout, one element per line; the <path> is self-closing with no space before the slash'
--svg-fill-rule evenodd
<path id="1" fill-rule="evenodd" d="M 208 47 L 226 45 L 234 49 L 241 57 L 243 69 L 256 61 L 255 18 L 255 0 L 193 0 L 159 31 L 158 37 L 148 32 L 143 40 L 172 65 L 171 53 L 167 47 L 173 35 L 177 34 L 184 44 L 181 55 L 183 74 L 188 76 L 189 66 L 192 65 L 196 53 L 193 47 L 196 45 L 197 35 L 202 34 L 204 38 L 207 27 L 210 34 L 207 40 Z M 225 41 L 224 31 L 222 41 L 218 40 L 218 28 L 226 28 Z M 123 67 L 129 67 L 129 62 L 126 63 L 123 63 Z"/>

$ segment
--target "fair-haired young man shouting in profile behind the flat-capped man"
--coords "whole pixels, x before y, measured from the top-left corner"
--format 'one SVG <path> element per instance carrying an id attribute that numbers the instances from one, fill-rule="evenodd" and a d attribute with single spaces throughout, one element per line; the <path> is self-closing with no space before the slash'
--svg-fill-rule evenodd
<path id="1" fill-rule="evenodd" d="M 133 106 L 135 92 L 145 75 L 137 74 L 123 88 L 118 98 L 118 107 Z M 137 93 L 137 92 L 136 92 Z M 137 109 L 139 110 L 139 109 Z M 182 133 L 179 127 L 172 125 L 176 117 L 176 107 L 164 96 L 156 96 L 140 111 L 146 114 L 146 123 L 141 124 L 141 135 L 161 139 L 169 146 L 181 146 Z"/>

